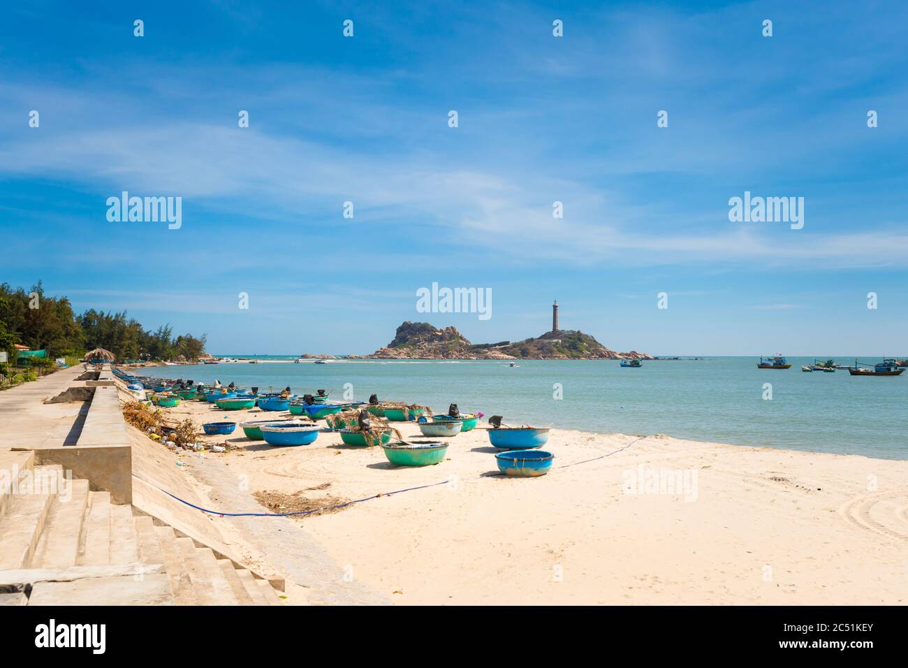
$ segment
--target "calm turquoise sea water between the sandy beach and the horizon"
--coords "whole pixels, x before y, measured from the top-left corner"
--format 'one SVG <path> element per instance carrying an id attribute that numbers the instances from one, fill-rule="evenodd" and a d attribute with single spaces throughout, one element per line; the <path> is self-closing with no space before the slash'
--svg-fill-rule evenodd
<path id="1" fill-rule="evenodd" d="M 830 355 L 833 357 L 833 355 Z M 259 359 L 281 359 L 261 355 Z M 286 359 L 286 358 L 283 358 Z M 852 377 L 801 372 L 814 358 L 789 357 L 787 370 L 761 370 L 754 357 L 703 361 L 644 362 L 639 369 L 617 362 L 350 361 L 330 364 L 207 364 L 153 367 L 145 373 L 260 391 L 290 385 L 294 392 L 331 391 L 344 384 L 353 398 L 448 404 L 463 413 L 504 415 L 510 424 L 624 434 L 663 433 L 678 438 L 759 445 L 837 454 L 908 459 L 903 414 L 908 373 L 897 377 Z M 824 357 L 825 359 L 825 357 Z M 854 357 L 835 357 L 853 364 Z M 873 363 L 879 358 L 861 358 Z M 765 383 L 773 398 L 763 398 Z M 553 398 L 560 384 L 563 398 Z"/>

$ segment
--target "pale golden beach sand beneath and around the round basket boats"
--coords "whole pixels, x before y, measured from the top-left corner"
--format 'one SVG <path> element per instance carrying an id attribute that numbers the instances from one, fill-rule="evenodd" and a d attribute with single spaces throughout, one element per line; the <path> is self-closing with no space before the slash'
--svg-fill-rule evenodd
<path id="1" fill-rule="evenodd" d="M 288 416 L 198 402 L 167 413 L 199 424 Z M 344 577 L 392 603 L 908 601 L 908 462 L 555 429 L 551 472 L 516 479 L 495 475 L 479 429 L 422 468 L 332 433 L 296 448 L 240 428 L 201 440 L 237 448 L 207 455 L 207 474 L 242 475 L 252 492 L 351 500 L 445 483 L 294 520 Z M 249 510 L 230 503 L 222 491 L 216 507 Z"/>

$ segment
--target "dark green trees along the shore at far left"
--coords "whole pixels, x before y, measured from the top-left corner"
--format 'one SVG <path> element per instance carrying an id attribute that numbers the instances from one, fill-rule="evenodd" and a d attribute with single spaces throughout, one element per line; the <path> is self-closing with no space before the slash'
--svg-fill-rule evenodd
<path id="1" fill-rule="evenodd" d="M 39 281 L 27 292 L 0 284 L 0 350 L 15 362 L 15 344 L 48 351 L 50 357 L 81 357 L 86 351 L 104 348 L 118 360 L 195 360 L 205 352 L 205 335 L 174 336 L 164 324 L 146 330 L 126 312 L 111 313 L 94 308 L 75 314 L 66 297 L 44 294 Z"/>

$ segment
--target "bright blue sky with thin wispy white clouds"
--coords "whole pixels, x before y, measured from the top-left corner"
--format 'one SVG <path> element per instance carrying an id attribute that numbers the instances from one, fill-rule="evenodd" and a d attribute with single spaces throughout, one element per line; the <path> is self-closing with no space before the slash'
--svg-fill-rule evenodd
<path id="1" fill-rule="evenodd" d="M 905 354 L 905 5 L 249 5 L 5 8 L 0 281 L 215 353 L 517 340 L 557 298 L 617 350 Z M 108 222 L 123 190 L 182 228 Z M 804 229 L 729 222 L 745 191 Z M 433 282 L 492 317 L 418 313 Z"/>

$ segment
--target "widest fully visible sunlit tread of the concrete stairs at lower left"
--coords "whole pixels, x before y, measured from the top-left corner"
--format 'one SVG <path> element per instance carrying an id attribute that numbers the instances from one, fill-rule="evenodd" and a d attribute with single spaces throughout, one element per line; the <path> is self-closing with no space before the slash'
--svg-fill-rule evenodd
<path id="1" fill-rule="evenodd" d="M 32 558 L 33 568 L 74 566 L 79 556 L 79 540 L 88 504 L 88 481 L 73 480 L 54 496 L 44 523 L 44 531 Z"/>

